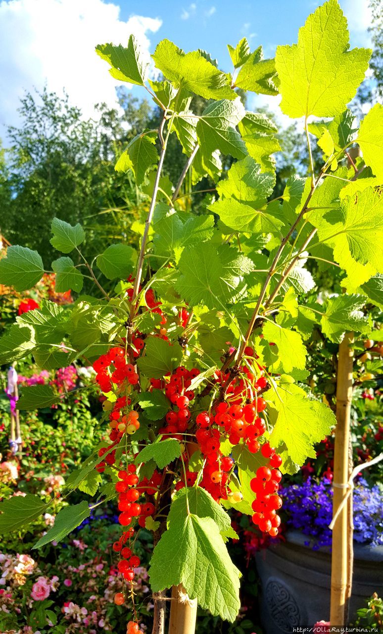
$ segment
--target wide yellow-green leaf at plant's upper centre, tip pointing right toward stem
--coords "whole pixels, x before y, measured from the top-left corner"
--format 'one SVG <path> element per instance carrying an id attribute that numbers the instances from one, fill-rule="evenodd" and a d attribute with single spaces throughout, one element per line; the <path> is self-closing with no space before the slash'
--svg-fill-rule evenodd
<path id="1" fill-rule="evenodd" d="M 217 200 L 209 209 L 217 214 L 227 227 L 242 233 L 279 233 L 283 225 L 278 218 L 237 202 L 235 198 Z"/>

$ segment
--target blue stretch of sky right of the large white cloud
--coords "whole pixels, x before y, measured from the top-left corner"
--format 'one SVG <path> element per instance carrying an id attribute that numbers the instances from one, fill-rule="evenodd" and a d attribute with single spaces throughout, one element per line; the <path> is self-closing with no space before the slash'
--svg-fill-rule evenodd
<path id="1" fill-rule="evenodd" d="M 167 37 L 187 51 L 206 49 L 218 58 L 223 70 L 230 70 L 226 44 L 236 44 L 246 36 L 253 48 L 263 44 L 265 56 L 273 55 L 277 44 L 296 42 L 299 27 L 318 4 L 315 0 L 120 1 L 122 18 L 142 13 L 144 7 L 145 15 L 162 20 L 160 29 L 151 37 L 153 45 Z M 353 25 L 357 4 L 360 13 L 363 0 L 358 3 L 341 1 L 344 11 L 350 10 Z M 354 46 L 363 43 L 365 29 L 361 33 L 354 29 L 351 37 Z"/>

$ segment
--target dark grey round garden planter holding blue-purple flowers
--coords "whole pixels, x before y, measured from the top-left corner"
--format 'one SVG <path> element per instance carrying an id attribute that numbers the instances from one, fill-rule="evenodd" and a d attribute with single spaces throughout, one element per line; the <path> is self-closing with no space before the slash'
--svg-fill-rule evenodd
<path id="1" fill-rule="evenodd" d="M 329 548 L 315 551 L 305 546 L 307 540 L 298 531 L 288 531 L 286 542 L 256 554 L 266 634 L 291 634 L 294 627 L 329 619 L 331 554 Z M 383 590 L 383 546 L 354 543 L 354 555 L 350 618 L 367 597 Z"/>

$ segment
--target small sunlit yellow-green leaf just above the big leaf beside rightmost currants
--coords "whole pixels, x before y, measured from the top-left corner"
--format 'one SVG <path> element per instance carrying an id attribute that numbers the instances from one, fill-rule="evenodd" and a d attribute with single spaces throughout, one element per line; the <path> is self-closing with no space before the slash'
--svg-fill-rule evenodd
<path id="1" fill-rule="evenodd" d="M 268 342 L 278 347 L 278 365 L 284 372 L 291 372 L 292 368 L 303 370 L 306 365 L 306 347 L 301 335 L 294 330 L 281 328 L 277 324 L 267 321 L 262 328 L 263 336 Z"/>

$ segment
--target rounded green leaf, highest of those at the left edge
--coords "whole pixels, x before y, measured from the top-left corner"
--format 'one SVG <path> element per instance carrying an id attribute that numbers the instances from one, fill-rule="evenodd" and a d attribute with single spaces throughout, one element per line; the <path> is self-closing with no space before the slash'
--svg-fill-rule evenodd
<path id="1" fill-rule="evenodd" d="M 0 259 L 0 284 L 13 286 L 18 292 L 32 288 L 43 273 L 41 257 L 27 247 L 8 247 L 6 257 Z"/>

